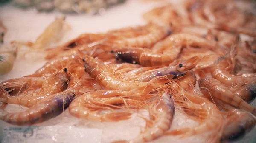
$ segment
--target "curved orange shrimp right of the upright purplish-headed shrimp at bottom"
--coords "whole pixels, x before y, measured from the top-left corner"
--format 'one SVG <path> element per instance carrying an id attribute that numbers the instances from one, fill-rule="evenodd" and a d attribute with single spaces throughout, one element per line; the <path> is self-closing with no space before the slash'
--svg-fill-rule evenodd
<path id="1" fill-rule="evenodd" d="M 212 131 L 211 140 L 218 140 L 221 137 L 223 116 L 219 109 L 207 98 L 197 94 L 194 85 L 196 84 L 195 75 L 192 72 L 178 79 L 178 84 L 172 84 L 172 97 L 178 109 L 188 115 L 199 125 L 194 128 L 174 129 L 166 132 L 166 135 L 181 135 L 183 137 L 203 134 Z"/>

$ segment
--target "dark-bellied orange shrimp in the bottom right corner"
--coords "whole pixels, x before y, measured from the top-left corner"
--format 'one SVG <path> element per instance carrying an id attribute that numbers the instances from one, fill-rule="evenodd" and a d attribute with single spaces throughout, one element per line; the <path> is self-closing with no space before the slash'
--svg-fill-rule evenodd
<path id="1" fill-rule="evenodd" d="M 247 112 L 238 109 L 227 112 L 221 143 L 239 140 L 247 132 L 250 132 L 255 124 L 255 118 Z"/>

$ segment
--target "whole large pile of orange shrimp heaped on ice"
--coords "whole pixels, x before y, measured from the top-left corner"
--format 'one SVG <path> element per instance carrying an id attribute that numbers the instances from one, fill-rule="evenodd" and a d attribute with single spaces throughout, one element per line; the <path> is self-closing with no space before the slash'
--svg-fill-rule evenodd
<path id="1" fill-rule="evenodd" d="M 238 140 L 256 124 L 256 15 L 253 2 L 189 0 L 143 14 L 148 24 L 84 33 L 47 49 L 32 75 L 0 83 L 0 119 L 32 125 L 68 108 L 99 122 L 146 109 L 145 129 L 132 140 L 209 133 L 208 143 Z M 24 112 L 5 111 L 18 104 Z M 170 129 L 175 110 L 199 124 Z"/>

